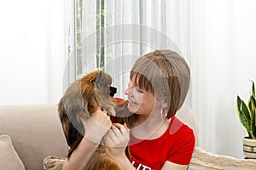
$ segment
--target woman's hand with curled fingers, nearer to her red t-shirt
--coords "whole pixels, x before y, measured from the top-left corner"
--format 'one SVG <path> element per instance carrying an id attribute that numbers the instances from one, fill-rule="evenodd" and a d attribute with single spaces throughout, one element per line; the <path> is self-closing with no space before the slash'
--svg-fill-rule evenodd
<path id="1" fill-rule="evenodd" d="M 103 138 L 103 144 L 110 147 L 113 156 L 125 154 L 125 148 L 130 140 L 130 129 L 126 124 L 114 123 L 111 129 Z"/>

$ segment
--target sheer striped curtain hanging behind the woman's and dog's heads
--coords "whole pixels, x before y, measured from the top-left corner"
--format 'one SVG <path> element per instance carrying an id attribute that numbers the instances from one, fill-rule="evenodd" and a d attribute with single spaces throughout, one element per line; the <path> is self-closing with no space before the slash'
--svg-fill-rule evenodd
<path id="1" fill-rule="evenodd" d="M 189 25 L 189 13 L 177 15 L 186 11 L 177 6 L 187 3 L 166 0 L 102 2 L 77 1 L 77 6 L 82 7 L 79 13 L 82 33 L 77 37 L 80 40 L 77 48 L 82 47 L 82 74 L 103 67 L 113 77 L 117 96 L 124 98 L 129 72 L 139 56 L 155 49 L 170 48 L 190 61 L 189 26 L 184 27 Z M 99 8 L 104 8 L 103 17 Z M 178 45 L 183 50 L 177 48 Z M 78 57 L 76 53 L 73 50 L 71 56 Z"/>

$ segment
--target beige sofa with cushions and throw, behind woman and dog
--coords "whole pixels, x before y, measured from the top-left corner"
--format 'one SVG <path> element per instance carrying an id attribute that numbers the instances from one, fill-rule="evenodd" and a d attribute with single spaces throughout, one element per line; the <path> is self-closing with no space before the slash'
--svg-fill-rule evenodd
<path id="1" fill-rule="evenodd" d="M 177 116 L 192 127 L 197 136 L 189 108 L 184 107 Z M 67 150 L 57 105 L 0 106 L 1 170 L 60 170 Z M 212 154 L 199 146 L 197 140 L 189 165 L 189 170 L 194 169 L 256 170 L 256 161 Z"/>

